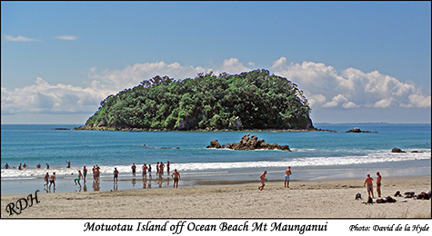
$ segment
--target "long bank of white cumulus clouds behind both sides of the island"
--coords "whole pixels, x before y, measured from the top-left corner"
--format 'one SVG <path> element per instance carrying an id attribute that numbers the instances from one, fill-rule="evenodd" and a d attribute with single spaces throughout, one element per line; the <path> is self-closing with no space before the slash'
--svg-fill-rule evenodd
<path id="1" fill-rule="evenodd" d="M 252 70 L 236 58 L 226 59 L 216 68 L 181 65 L 177 62 L 127 65 L 120 70 L 99 71 L 89 68 L 85 87 L 68 84 L 48 84 L 37 77 L 35 84 L 23 88 L 1 88 L 2 114 L 28 113 L 94 113 L 99 103 L 110 94 L 134 87 L 156 75 L 174 79 L 193 78 L 196 74 L 239 74 Z M 430 108 L 430 93 L 424 95 L 415 84 L 400 82 L 397 78 L 365 73 L 355 68 L 337 71 L 321 63 L 288 64 L 285 57 L 276 60 L 272 73 L 284 76 L 298 85 L 306 94 L 312 108 L 341 109 L 367 108 Z M 7 79 L 7 78 L 5 78 Z"/>

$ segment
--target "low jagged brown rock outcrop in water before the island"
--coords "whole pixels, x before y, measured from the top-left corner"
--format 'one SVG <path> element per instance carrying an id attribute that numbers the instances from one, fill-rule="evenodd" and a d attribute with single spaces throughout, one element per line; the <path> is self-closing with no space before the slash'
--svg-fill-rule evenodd
<path id="1" fill-rule="evenodd" d="M 270 144 L 266 143 L 264 139 L 259 139 L 256 135 L 250 136 L 248 133 L 244 135 L 239 143 L 227 143 L 226 145 L 221 145 L 217 140 L 212 140 L 207 148 L 227 148 L 232 150 L 282 150 L 291 152 L 288 145 Z"/>

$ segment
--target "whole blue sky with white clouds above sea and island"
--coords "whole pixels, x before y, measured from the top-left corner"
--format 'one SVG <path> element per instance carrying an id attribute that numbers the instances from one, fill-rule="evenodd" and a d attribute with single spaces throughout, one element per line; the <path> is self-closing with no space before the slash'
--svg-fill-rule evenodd
<path id="1" fill-rule="evenodd" d="M 265 68 L 315 123 L 430 123 L 430 2 L 2 2 L 2 123 L 85 123 L 107 95 Z"/>

